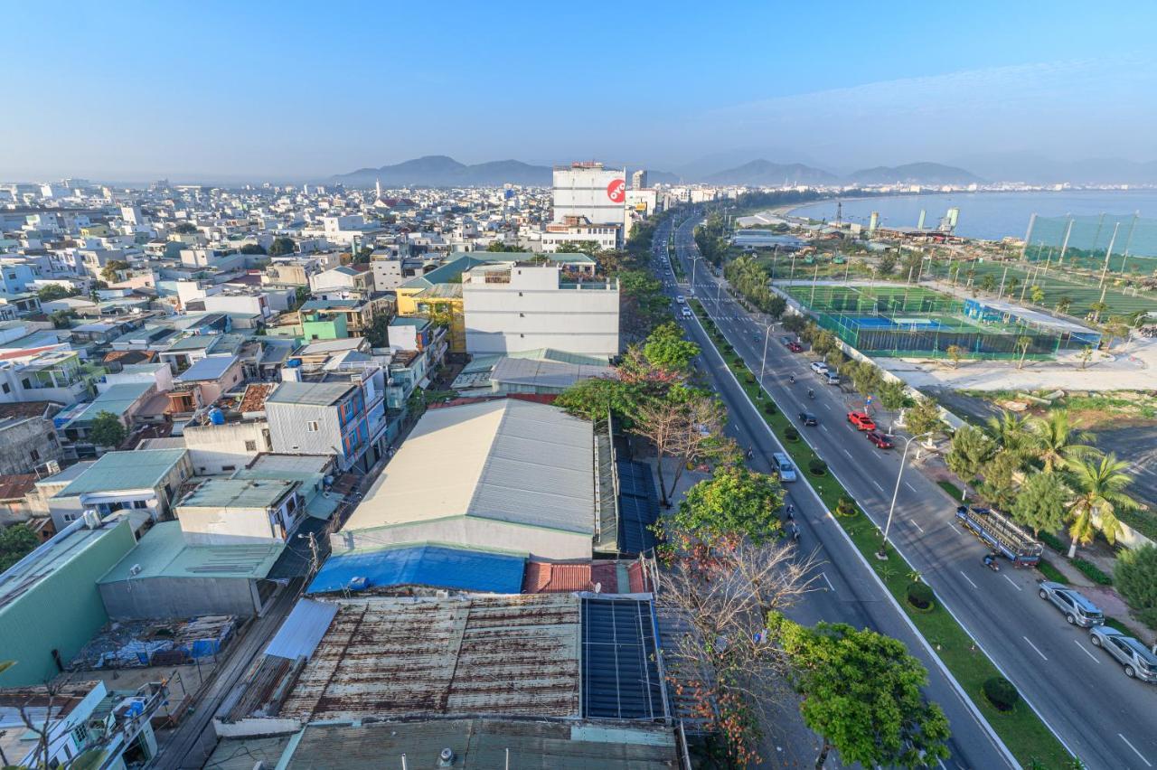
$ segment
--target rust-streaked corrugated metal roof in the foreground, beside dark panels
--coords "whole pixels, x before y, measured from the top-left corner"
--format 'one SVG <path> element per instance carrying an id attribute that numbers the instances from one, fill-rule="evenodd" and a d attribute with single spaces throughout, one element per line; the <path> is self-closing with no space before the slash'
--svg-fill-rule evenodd
<path id="1" fill-rule="evenodd" d="M 344 600 L 279 716 L 578 716 L 570 594 Z"/>

